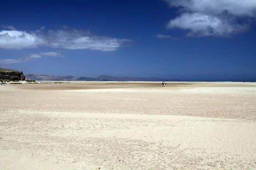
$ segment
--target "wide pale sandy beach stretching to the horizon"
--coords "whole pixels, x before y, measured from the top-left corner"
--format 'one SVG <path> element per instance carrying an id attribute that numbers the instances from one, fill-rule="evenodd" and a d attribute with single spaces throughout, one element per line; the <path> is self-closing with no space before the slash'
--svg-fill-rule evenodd
<path id="1" fill-rule="evenodd" d="M 255 82 L 0 86 L 0 169 L 256 169 Z"/>

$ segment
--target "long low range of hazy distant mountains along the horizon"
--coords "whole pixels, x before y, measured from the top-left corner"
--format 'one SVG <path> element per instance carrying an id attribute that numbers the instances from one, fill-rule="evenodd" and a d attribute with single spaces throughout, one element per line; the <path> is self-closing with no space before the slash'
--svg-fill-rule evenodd
<path id="1" fill-rule="evenodd" d="M 168 80 L 155 77 L 114 77 L 101 75 L 96 78 L 73 77 L 73 76 L 51 76 L 47 74 L 26 74 L 26 77 L 38 81 L 178 81 L 177 79 Z"/>

